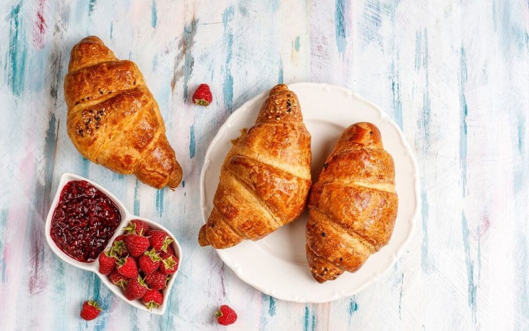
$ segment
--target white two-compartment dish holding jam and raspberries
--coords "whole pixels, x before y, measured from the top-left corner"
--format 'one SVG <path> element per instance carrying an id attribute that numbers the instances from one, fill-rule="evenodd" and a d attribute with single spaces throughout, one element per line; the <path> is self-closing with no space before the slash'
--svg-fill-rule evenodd
<path id="1" fill-rule="evenodd" d="M 79 261 L 75 260 L 74 258 L 68 256 L 66 253 L 62 252 L 61 249 L 55 244 L 55 242 L 53 241 L 53 239 L 51 238 L 51 235 L 50 235 L 51 219 L 53 217 L 53 212 L 55 211 L 55 208 L 57 207 L 57 204 L 59 202 L 59 198 L 60 198 L 62 189 L 69 181 L 87 181 L 88 183 L 94 185 L 99 191 L 101 191 L 104 194 L 106 194 L 108 196 L 108 198 L 110 198 L 115 203 L 117 209 L 120 210 L 121 217 L 122 217 L 121 223 L 116 228 L 116 232 L 115 232 L 114 236 L 112 236 L 112 238 L 108 241 L 108 244 L 105 247 L 105 249 L 112 245 L 115 237 L 117 237 L 117 236 L 119 236 L 119 235 L 121 235 L 123 233 L 122 229 L 123 229 L 123 227 L 125 227 L 125 226 L 127 226 L 129 224 L 129 221 L 135 220 L 135 219 L 141 220 L 141 221 L 144 221 L 145 223 L 147 223 L 151 229 L 157 229 L 157 230 L 166 231 L 172 238 L 175 239 L 175 241 L 172 243 L 172 248 L 175 249 L 175 254 L 178 257 L 178 260 L 179 260 L 178 270 L 180 270 L 180 267 L 181 267 L 181 264 L 182 264 L 182 250 L 180 248 L 180 244 L 178 244 L 178 241 L 176 240 L 176 237 L 173 234 L 171 234 L 171 232 L 169 230 L 167 230 L 165 227 L 162 227 L 158 223 L 156 223 L 154 221 L 151 221 L 149 219 L 138 217 L 138 216 L 134 216 L 133 214 L 131 214 L 125 208 L 123 203 L 114 196 L 114 194 L 108 192 L 101 185 L 98 185 L 98 184 L 96 184 L 96 183 L 94 183 L 94 182 L 92 182 L 90 180 L 87 180 L 84 177 L 77 176 L 77 175 L 70 174 L 70 173 L 63 173 L 62 176 L 61 176 L 61 179 L 59 181 L 59 187 L 57 188 L 57 193 L 55 194 L 55 198 L 53 198 L 53 202 L 51 203 L 51 208 L 50 208 L 50 211 L 48 212 L 48 217 L 46 218 L 46 224 L 45 224 L 45 227 L 44 227 L 44 234 L 45 234 L 45 237 L 46 237 L 46 241 L 48 241 L 48 245 L 50 246 L 50 248 L 53 251 L 53 253 L 55 253 L 57 256 L 59 256 L 63 261 L 65 261 L 65 262 L 67 262 L 67 263 L 69 263 L 69 264 L 71 264 L 73 266 L 76 266 L 76 267 L 78 267 L 80 269 L 84 269 L 84 270 L 88 270 L 88 271 L 92 271 L 92 272 L 96 273 L 99 276 L 99 278 L 101 278 L 101 281 L 112 292 L 114 292 L 114 294 L 116 294 L 117 297 L 123 299 L 124 301 L 126 301 L 130 305 L 132 305 L 132 306 L 134 306 L 134 307 L 136 307 L 138 309 L 148 311 L 151 314 L 163 315 L 165 313 L 166 308 L 167 308 L 167 301 L 169 301 L 168 297 L 169 297 L 169 294 L 171 292 L 172 284 L 174 284 L 175 279 L 176 279 L 176 277 L 178 275 L 178 270 L 176 271 L 176 273 L 174 273 L 172 275 L 171 279 L 167 283 L 167 288 L 163 289 L 163 291 L 162 291 L 163 303 L 160 305 L 160 307 L 153 308 L 152 311 L 151 311 L 151 310 L 147 309 L 147 307 L 145 307 L 143 305 L 143 303 L 140 302 L 140 300 L 132 300 L 132 301 L 130 301 L 127 298 L 125 298 L 121 288 L 119 288 L 116 285 L 112 284 L 110 282 L 110 280 L 108 279 L 107 275 L 103 275 L 103 274 L 99 273 L 99 261 L 98 260 L 95 260 L 95 261 L 92 261 L 92 262 L 79 262 Z"/>

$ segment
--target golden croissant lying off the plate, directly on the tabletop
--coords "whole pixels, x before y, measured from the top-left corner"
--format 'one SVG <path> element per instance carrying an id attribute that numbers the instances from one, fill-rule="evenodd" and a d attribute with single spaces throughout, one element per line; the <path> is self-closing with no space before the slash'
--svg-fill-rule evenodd
<path id="1" fill-rule="evenodd" d="M 68 136 L 79 153 L 157 189 L 178 186 L 182 169 L 134 62 L 118 60 L 99 38 L 87 37 L 71 50 L 64 88 Z"/>

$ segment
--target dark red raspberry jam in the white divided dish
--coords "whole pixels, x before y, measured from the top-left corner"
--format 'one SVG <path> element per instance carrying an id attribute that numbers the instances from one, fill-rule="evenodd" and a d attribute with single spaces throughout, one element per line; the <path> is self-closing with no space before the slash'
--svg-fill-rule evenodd
<path id="1" fill-rule="evenodd" d="M 51 238 L 80 262 L 94 261 L 120 225 L 121 213 L 103 192 L 86 181 L 63 187 L 51 219 Z"/>

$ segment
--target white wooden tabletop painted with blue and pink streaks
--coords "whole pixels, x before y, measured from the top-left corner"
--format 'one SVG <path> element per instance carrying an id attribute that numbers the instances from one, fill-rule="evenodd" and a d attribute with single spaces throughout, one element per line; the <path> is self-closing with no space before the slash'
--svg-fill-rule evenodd
<path id="1" fill-rule="evenodd" d="M 529 3 L 526 0 L 67 1 L 0 4 L 0 329 L 529 329 Z M 69 141 L 69 51 L 98 35 L 134 60 L 184 169 L 176 192 L 87 162 Z M 199 248 L 198 175 L 226 117 L 278 82 L 353 88 L 415 150 L 422 212 L 386 276 L 322 305 L 275 300 Z M 189 94 L 209 83 L 208 109 Z M 62 172 L 105 185 L 183 244 L 165 316 L 114 297 L 45 245 Z M 256 262 L 258 263 L 258 262 Z M 78 318 L 82 301 L 105 308 Z M 223 329 L 223 328 L 218 328 Z"/>

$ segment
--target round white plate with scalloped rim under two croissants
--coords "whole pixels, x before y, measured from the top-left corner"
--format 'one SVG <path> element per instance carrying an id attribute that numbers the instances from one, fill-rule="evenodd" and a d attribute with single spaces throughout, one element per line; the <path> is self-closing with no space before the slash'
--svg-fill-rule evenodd
<path id="1" fill-rule="evenodd" d="M 296 221 L 259 241 L 244 240 L 218 255 L 240 279 L 272 297 L 295 302 L 328 302 L 349 297 L 386 273 L 398 260 L 411 239 L 418 212 L 418 175 L 415 158 L 402 131 L 382 110 L 352 91 L 333 85 L 295 83 L 288 85 L 302 107 L 305 125 L 312 136 L 313 182 L 343 130 L 356 122 L 376 124 L 385 149 L 395 160 L 398 215 L 387 246 L 369 257 L 356 273 L 344 273 L 335 281 L 317 283 L 305 257 L 305 211 Z M 204 222 L 213 209 L 213 196 L 221 165 L 231 148 L 231 139 L 242 128 L 255 123 L 269 91 L 235 110 L 209 145 L 200 176 Z"/>

